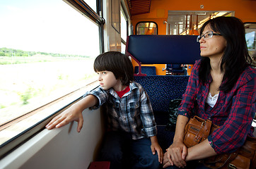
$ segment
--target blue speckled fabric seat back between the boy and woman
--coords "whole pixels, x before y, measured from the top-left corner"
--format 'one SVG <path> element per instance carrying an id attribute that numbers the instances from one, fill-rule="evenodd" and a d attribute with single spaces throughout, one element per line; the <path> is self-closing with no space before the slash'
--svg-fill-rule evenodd
<path id="1" fill-rule="evenodd" d="M 170 76 L 170 75 L 154 75 L 154 76 L 135 76 L 135 82 L 144 87 L 156 119 L 158 128 L 158 142 L 162 149 L 167 149 L 173 142 L 174 132 L 166 130 L 169 120 L 169 106 L 173 99 L 181 99 L 182 94 L 187 87 L 189 76 Z"/>

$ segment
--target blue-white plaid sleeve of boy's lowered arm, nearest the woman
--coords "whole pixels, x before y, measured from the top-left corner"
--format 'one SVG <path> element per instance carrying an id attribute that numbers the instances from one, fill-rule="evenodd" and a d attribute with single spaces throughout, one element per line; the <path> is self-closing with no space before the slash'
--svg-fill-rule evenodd
<path id="1" fill-rule="evenodd" d="M 156 135 L 156 122 L 153 116 L 153 109 L 151 102 L 149 100 L 148 94 L 141 87 L 141 96 L 140 96 L 140 109 L 141 109 L 141 122 L 144 125 L 142 129 L 147 137 L 152 137 Z"/>

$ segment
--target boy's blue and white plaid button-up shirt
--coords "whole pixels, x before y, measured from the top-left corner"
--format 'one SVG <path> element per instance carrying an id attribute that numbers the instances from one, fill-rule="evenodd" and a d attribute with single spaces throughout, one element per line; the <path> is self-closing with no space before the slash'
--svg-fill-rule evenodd
<path id="1" fill-rule="evenodd" d="M 112 131 L 124 131 L 132 134 L 132 139 L 141 139 L 156 135 L 156 122 L 148 94 L 141 84 L 132 82 L 130 91 L 122 98 L 114 89 L 103 90 L 101 87 L 87 92 L 98 98 L 99 104 L 93 109 L 106 103 L 107 125 Z"/>

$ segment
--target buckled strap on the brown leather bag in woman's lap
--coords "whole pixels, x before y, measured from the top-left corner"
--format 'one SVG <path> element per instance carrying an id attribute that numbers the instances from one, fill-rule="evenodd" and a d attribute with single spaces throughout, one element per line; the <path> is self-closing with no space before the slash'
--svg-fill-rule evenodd
<path id="1" fill-rule="evenodd" d="M 199 143 L 201 139 L 206 139 L 209 136 L 210 131 L 211 131 L 211 121 L 210 120 L 203 121 L 199 132 L 197 132 L 197 135 L 194 137 L 194 142 Z"/>

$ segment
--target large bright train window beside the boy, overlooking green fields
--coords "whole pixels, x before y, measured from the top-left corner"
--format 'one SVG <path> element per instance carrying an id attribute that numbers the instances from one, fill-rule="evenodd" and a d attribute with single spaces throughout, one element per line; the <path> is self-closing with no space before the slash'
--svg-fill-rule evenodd
<path id="1" fill-rule="evenodd" d="M 90 13 L 84 14 L 88 10 L 84 2 L 80 8 L 77 3 L 1 2 L 0 148 L 54 113 L 38 108 L 96 80 L 93 61 L 100 54 L 102 25 L 92 20 L 95 13 L 90 20 Z M 30 114 L 33 118 L 28 121 Z"/>

